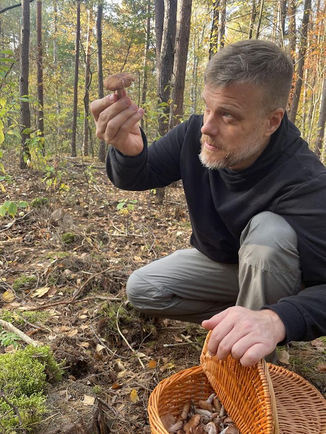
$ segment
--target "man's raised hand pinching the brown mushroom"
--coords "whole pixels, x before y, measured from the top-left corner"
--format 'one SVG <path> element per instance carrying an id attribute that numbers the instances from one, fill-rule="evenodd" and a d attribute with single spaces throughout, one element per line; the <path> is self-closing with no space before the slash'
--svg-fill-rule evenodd
<path id="1" fill-rule="evenodd" d="M 96 136 L 119 149 L 123 154 L 135 156 L 143 150 L 138 121 L 144 114 L 127 96 L 118 99 L 112 93 L 90 105 L 96 125 Z"/>

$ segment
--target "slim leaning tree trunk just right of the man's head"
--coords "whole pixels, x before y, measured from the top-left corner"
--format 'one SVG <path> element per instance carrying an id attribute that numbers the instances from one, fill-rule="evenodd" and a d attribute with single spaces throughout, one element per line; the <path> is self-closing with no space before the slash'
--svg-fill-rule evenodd
<path id="1" fill-rule="evenodd" d="M 297 81 L 294 89 L 294 95 L 291 104 L 290 111 L 290 120 L 294 123 L 297 117 L 297 111 L 299 106 L 299 99 L 302 87 L 302 78 L 303 78 L 303 67 L 304 67 L 304 59 L 307 49 L 307 33 L 309 27 L 309 17 L 310 17 L 310 9 L 311 9 L 311 0 L 304 0 L 304 9 L 303 9 L 303 19 L 301 26 L 301 38 L 300 38 L 300 50 L 299 50 L 299 61 L 298 61 L 298 69 L 297 69 Z"/>

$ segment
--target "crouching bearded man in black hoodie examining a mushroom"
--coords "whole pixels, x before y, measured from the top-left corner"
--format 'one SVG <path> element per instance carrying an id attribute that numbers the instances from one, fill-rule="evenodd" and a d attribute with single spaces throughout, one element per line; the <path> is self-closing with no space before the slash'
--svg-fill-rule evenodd
<path id="1" fill-rule="evenodd" d="M 287 118 L 292 61 L 268 41 L 220 50 L 205 71 L 204 115 L 147 147 L 143 110 L 109 95 L 91 110 L 124 190 L 182 179 L 193 248 L 135 271 L 142 312 L 213 329 L 208 350 L 244 366 L 277 344 L 326 334 L 326 169 Z"/>

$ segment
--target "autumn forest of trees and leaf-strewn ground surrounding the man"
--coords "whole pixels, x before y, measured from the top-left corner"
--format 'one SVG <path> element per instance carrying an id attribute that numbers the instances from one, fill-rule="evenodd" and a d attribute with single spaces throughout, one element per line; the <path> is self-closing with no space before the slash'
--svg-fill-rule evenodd
<path id="1" fill-rule="evenodd" d="M 108 145 L 89 111 L 105 95 L 103 78 L 134 74 L 128 93 L 152 141 L 202 112 L 213 54 L 248 38 L 273 41 L 295 67 L 288 115 L 325 163 L 325 35 L 325 0 L 1 1 L 0 321 L 37 333 L 66 360 L 48 409 L 30 412 L 21 400 L 15 414 L 0 400 L 3 432 L 50 434 L 60 424 L 65 433 L 70 424 L 100 433 L 101 418 L 110 432 L 149 432 L 151 390 L 198 363 L 204 330 L 148 319 L 126 303 L 128 275 L 188 247 L 191 227 L 181 186 L 135 193 L 107 180 Z M 1 353 L 24 348 L 1 325 Z M 326 394 L 326 338 L 279 356 Z M 16 402 L 0 378 L 1 396 Z M 81 406 L 84 396 L 95 397 L 101 417 L 94 401 Z"/>

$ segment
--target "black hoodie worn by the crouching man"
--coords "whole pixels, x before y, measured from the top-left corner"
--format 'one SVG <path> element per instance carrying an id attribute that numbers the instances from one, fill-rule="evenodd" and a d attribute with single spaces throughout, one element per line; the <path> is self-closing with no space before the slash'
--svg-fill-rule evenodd
<path id="1" fill-rule="evenodd" d="M 271 211 L 298 235 L 306 289 L 263 306 L 286 327 L 282 342 L 326 335 L 326 168 L 284 114 L 259 158 L 244 170 L 210 170 L 199 161 L 203 116 L 194 115 L 127 157 L 110 148 L 107 172 L 124 190 L 165 187 L 182 179 L 192 235 L 190 244 L 217 262 L 237 263 L 241 232 L 251 217 Z"/>

